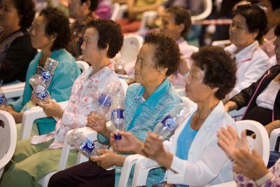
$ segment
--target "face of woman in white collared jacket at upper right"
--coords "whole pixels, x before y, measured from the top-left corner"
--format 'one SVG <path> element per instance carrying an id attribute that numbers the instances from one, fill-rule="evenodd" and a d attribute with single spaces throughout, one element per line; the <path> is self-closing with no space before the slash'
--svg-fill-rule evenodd
<path id="1" fill-rule="evenodd" d="M 257 35 L 258 33 L 248 32 L 246 19 L 243 16 L 239 14 L 235 15 L 230 25 L 231 43 L 235 44 L 237 48 L 245 48 L 255 41 L 255 36 Z"/>

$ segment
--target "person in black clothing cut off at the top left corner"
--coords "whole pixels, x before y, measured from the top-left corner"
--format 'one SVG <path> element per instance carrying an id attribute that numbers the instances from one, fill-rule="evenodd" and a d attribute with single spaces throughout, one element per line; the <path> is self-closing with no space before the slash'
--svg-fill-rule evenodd
<path id="1" fill-rule="evenodd" d="M 3 83 L 25 81 L 29 63 L 36 55 L 27 32 L 34 15 L 32 0 L 0 1 L 0 79 Z"/>

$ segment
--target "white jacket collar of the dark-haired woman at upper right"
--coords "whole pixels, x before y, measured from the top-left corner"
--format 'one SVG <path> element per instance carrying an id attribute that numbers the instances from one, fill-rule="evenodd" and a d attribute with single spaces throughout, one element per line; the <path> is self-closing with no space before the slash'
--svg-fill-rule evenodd
<path id="1" fill-rule="evenodd" d="M 232 55 L 235 56 L 236 62 L 247 62 L 251 60 L 253 57 L 253 53 L 257 49 L 258 49 L 258 41 L 254 41 L 251 45 L 240 50 L 239 53 L 237 54 L 235 54 L 235 50 L 237 50 L 237 47 L 234 44 L 228 46 L 228 48 L 225 48 L 225 50 L 227 50 L 228 52 L 230 52 Z"/>

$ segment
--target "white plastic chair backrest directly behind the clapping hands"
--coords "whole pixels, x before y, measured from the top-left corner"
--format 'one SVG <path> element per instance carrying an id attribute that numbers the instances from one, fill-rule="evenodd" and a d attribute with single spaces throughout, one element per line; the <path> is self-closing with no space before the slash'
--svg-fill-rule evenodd
<path id="1" fill-rule="evenodd" d="M 239 134 L 243 130 L 251 130 L 255 133 L 255 139 L 252 139 L 252 148 L 258 151 L 260 156 L 262 156 L 265 165 L 268 163 L 269 159 L 269 137 L 265 127 L 262 124 L 254 120 L 239 120 L 237 121 L 237 130 Z"/>

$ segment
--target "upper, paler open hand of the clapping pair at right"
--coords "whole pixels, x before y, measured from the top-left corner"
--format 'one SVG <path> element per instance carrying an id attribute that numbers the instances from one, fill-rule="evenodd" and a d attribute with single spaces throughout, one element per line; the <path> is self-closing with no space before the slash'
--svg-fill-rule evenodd
<path id="1" fill-rule="evenodd" d="M 221 127 L 218 131 L 218 145 L 225 151 L 228 157 L 232 160 L 232 155 L 237 151 L 237 148 L 248 149 L 248 141 L 246 139 L 246 132 L 241 133 L 241 139 L 239 139 L 237 132 L 231 126 L 228 128 Z"/>

